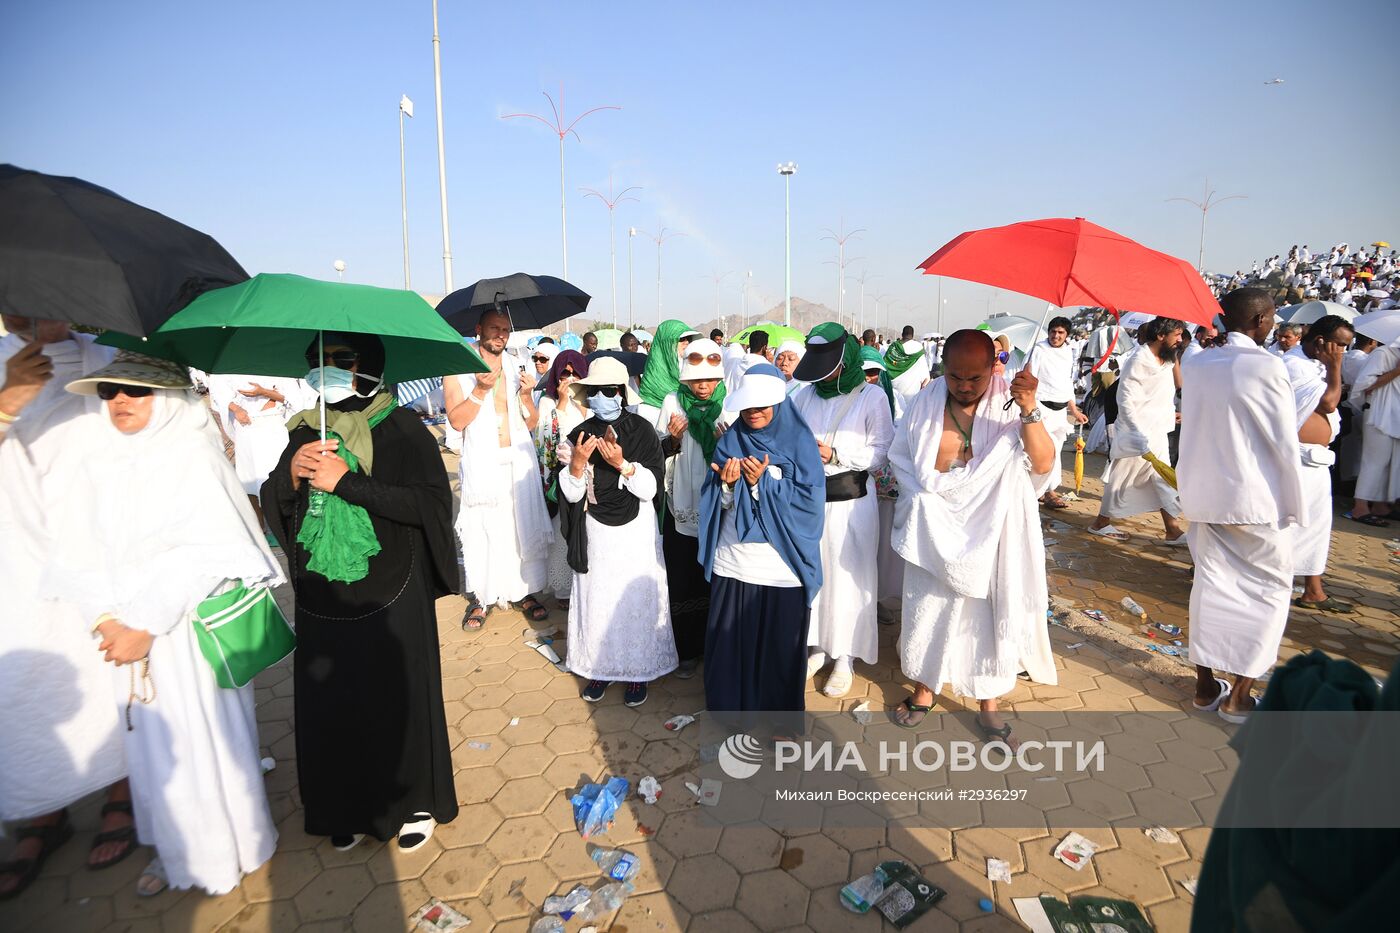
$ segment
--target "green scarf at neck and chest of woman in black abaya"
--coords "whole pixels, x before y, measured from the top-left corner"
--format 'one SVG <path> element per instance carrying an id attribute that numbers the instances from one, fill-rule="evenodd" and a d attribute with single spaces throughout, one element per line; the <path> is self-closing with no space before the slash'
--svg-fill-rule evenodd
<path id="1" fill-rule="evenodd" d="M 374 440 L 370 431 L 398 408 L 399 402 L 389 392 L 381 392 L 363 412 L 336 412 L 326 409 L 326 437 L 340 441 L 337 454 L 358 472 L 364 466 L 370 474 L 374 459 Z M 298 413 L 287 427 L 305 424 L 321 430 L 321 409 Z M 319 573 L 326 580 L 354 583 L 370 573 L 370 558 L 379 553 L 379 538 L 374 534 L 374 523 L 363 506 L 353 506 L 335 493 L 311 490 L 312 507 L 301 523 L 297 542 L 309 553 L 307 569 Z"/>

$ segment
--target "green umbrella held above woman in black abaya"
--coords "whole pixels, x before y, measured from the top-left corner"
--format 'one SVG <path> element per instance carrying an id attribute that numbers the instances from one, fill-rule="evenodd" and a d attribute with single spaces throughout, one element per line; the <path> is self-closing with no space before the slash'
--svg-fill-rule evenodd
<path id="1" fill-rule="evenodd" d="M 384 381 L 487 366 L 416 291 L 262 273 L 206 291 L 148 338 L 108 331 L 98 343 L 175 360 L 206 373 L 307 374 L 307 347 L 325 331 L 384 340 Z"/>

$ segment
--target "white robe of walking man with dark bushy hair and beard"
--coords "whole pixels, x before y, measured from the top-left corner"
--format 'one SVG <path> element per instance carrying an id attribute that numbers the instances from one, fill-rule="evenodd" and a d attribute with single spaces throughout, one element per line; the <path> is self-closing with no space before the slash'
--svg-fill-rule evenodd
<path id="1" fill-rule="evenodd" d="M 1103 504 L 1099 514 L 1131 518 L 1165 509 L 1182 514 L 1176 490 L 1152 464 L 1142 459 L 1151 451 L 1163 464 L 1172 462 L 1168 436 L 1176 427 L 1176 380 L 1170 363 L 1158 359 L 1152 347 L 1137 346 L 1123 360 L 1119 374 L 1119 417 L 1113 424 L 1109 465 L 1103 472 Z"/>

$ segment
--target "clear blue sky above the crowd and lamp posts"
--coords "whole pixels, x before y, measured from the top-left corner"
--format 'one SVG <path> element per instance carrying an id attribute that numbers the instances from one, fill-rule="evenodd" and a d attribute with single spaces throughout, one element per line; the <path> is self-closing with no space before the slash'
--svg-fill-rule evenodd
<path id="1" fill-rule="evenodd" d="M 665 247 L 665 315 L 728 314 L 739 282 L 836 304 L 826 227 L 931 326 L 914 266 L 958 233 L 1085 216 L 1196 261 L 1204 178 L 1247 195 L 1210 216 L 1207 266 L 1308 242 L 1400 241 L 1400 4 L 515 3 L 441 0 L 458 287 L 560 273 L 556 137 L 512 111 L 601 104 L 567 143 L 570 277 L 610 314 L 608 212 L 580 186 L 641 185 L 617 209 Z M 442 290 L 430 0 L 28 0 L 0 10 L 0 161 L 73 174 L 211 233 L 249 272 L 402 286 L 398 99 L 407 126 L 413 284 Z M 1350 36 L 1350 38 L 1348 38 Z M 1285 84 L 1266 87 L 1273 77 Z M 546 109 L 547 112 L 547 109 Z M 636 240 L 636 308 L 657 251 Z M 946 283 L 945 329 L 1040 305 Z M 756 308 L 759 297 L 753 298 Z M 917 308 L 910 314 L 910 308 Z"/>

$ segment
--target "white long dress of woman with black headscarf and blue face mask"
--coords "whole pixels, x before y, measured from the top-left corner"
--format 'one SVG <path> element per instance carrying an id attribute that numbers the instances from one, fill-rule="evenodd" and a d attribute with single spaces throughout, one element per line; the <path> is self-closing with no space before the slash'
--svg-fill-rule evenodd
<path id="1" fill-rule="evenodd" d="M 573 445 L 560 447 L 568 462 Z M 592 483 L 592 466 L 575 479 L 564 469 L 559 490 L 580 502 Z M 645 684 L 676 670 L 676 640 L 671 632 L 671 591 L 657 528 L 657 478 L 637 468 L 617 481 L 641 500 L 624 525 L 605 525 L 585 516 L 588 573 L 574 574 L 568 602 L 568 670 L 591 681 Z"/>

